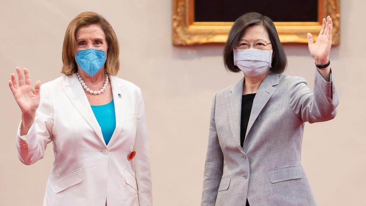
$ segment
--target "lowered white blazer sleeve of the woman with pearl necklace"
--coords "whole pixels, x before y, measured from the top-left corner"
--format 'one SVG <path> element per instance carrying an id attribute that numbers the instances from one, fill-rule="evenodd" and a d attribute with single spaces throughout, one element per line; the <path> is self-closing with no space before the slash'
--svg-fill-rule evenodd
<path id="1" fill-rule="evenodd" d="M 145 106 L 143 103 L 142 93 L 139 90 L 139 98 L 137 102 L 137 129 L 134 151 L 135 176 L 138 187 L 139 205 L 152 205 L 152 183 L 150 174 L 150 158 L 147 144 L 147 129 Z"/>

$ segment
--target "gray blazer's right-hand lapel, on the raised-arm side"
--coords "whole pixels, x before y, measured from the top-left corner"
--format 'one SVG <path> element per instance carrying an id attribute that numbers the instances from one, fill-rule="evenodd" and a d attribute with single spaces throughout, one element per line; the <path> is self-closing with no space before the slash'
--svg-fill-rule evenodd
<path id="1" fill-rule="evenodd" d="M 247 139 L 248 133 L 253 126 L 255 119 L 257 119 L 259 113 L 261 113 L 264 106 L 267 104 L 269 98 L 275 93 L 277 90 L 274 85 L 279 84 L 279 74 L 274 74 L 271 71 L 266 75 L 264 80 L 262 81 L 261 85 L 259 86 L 259 89 L 257 91 L 257 94 L 254 97 L 253 100 L 253 107 L 250 112 L 249 122 L 247 131 L 245 134 L 244 142 Z M 253 142 L 253 141 L 251 141 Z M 248 147 L 249 148 L 249 147 Z"/>

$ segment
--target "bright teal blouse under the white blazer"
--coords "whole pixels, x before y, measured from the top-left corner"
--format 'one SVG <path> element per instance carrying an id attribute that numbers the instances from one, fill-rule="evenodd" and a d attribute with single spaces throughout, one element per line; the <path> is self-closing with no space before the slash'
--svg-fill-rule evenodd
<path id="1" fill-rule="evenodd" d="M 113 99 L 108 104 L 98 106 L 91 105 L 91 109 L 102 129 L 103 138 L 107 145 L 116 129 L 116 114 Z"/>

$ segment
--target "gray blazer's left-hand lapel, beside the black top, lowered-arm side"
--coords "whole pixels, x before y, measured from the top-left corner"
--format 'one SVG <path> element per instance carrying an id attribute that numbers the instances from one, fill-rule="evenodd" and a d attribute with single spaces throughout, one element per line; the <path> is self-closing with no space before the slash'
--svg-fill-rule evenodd
<path id="1" fill-rule="evenodd" d="M 244 77 L 230 89 L 230 93 L 228 94 L 229 101 L 227 101 L 232 137 L 236 146 L 242 152 L 243 148 L 240 146 L 240 117 L 242 111 L 243 82 Z"/>

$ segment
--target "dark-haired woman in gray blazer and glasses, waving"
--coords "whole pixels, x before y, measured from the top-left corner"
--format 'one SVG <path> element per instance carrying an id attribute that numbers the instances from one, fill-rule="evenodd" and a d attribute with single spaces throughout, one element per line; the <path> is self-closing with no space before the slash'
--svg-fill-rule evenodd
<path id="1" fill-rule="evenodd" d="M 247 13 L 235 21 L 223 58 L 227 70 L 244 77 L 213 98 L 202 206 L 316 205 L 301 144 L 305 122 L 328 121 L 337 113 L 330 16 L 315 43 L 307 37 L 314 91 L 304 78 L 283 74 L 287 58 L 270 18 Z"/>

